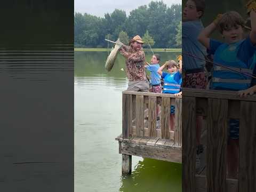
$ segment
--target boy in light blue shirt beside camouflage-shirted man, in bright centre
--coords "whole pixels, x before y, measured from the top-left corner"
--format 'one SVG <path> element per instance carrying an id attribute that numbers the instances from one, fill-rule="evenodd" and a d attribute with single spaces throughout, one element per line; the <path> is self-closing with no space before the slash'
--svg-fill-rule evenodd
<path id="1" fill-rule="evenodd" d="M 151 64 L 145 66 L 146 69 L 148 69 L 150 73 L 150 79 L 151 79 L 151 86 L 152 86 L 152 92 L 153 93 L 161 93 L 162 87 L 161 87 L 161 75 L 157 73 L 157 70 L 160 68 L 159 66 L 160 62 L 160 55 L 154 54 L 151 59 Z"/>

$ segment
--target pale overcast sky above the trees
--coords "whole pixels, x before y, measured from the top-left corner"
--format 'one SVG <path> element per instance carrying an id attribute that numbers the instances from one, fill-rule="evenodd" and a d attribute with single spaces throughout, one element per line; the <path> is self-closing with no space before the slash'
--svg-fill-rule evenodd
<path id="1" fill-rule="evenodd" d="M 98 17 L 104 17 L 105 13 L 112 13 L 115 9 L 130 11 L 140 5 L 148 5 L 151 1 L 157 0 L 75 0 L 75 12 L 89 13 Z M 181 4 L 181 0 L 163 0 L 167 6 Z"/>

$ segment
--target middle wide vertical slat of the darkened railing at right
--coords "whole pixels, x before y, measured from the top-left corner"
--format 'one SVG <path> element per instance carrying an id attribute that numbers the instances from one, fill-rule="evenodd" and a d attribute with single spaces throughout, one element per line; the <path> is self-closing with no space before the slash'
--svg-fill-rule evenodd
<path id="1" fill-rule="evenodd" d="M 207 114 L 207 191 L 226 192 L 228 100 L 209 98 Z"/>

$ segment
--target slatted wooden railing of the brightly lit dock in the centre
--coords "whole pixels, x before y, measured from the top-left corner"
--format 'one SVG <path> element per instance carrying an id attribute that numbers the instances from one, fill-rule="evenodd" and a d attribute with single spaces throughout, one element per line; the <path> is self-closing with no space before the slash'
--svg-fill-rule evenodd
<path id="1" fill-rule="evenodd" d="M 181 96 L 174 97 L 173 94 L 124 91 L 122 138 L 159 137 L 173 140 L 174 146 L 181 147 L 181 101 Z M 169 128 L 171 105 L 175 106 L 174 131 Z"/>

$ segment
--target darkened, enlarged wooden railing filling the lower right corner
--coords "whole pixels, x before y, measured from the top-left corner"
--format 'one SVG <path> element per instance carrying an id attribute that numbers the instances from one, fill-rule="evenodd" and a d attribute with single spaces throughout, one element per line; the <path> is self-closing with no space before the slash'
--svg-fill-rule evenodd
<path id="1" fill-rule="evenodd" d="M 202 114 L 196 114 L 201 109 Z M 182 191 L 256 191 L 256 97 L 234 91 L 182 90 Z M 195 174 L 196 115 L 206 118 L 206 173 Z M 226 176 L 229 119 L 239 119 L 238 179 Z"/>

